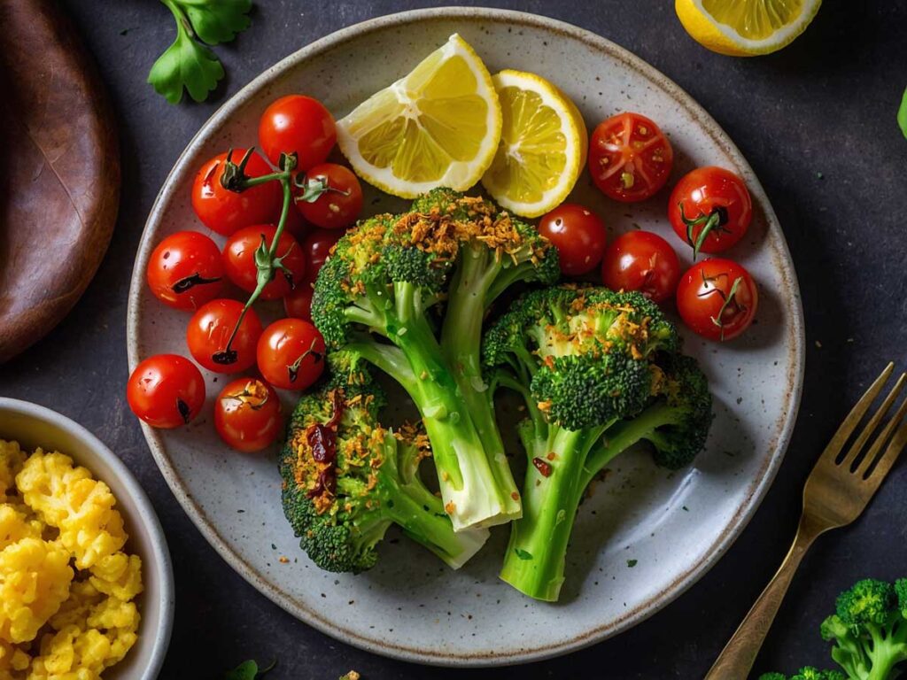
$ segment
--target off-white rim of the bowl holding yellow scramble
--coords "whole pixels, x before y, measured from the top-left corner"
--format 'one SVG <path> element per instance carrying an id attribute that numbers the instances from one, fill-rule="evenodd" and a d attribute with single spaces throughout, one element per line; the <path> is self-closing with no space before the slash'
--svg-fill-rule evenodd
<path id="1" fill-rule="evenodd" d="M 25 402 L 11 397 L 0 397 L 0 410 L 22 414 L 44 423 L 50 423 L 61 431 L 71 434 L 73 439 L 85 443 L 88 448 L 97 454 L 98 458 L 102 459 L 103 464 L 110 468 L 117 481 L 122 483 L 129 498 L 135 503 L 135 509 L 138 511 L 139 516 L 130 516 L 128 519 L 133 523 L 141 523 L 148 530 L 148 535 L 151 539 L 151 545 L 149 546 L 151 555 L 143 555 L 142 557 L 145 559 L 151 558 L 158 571 L 157 576 L 160 581 L 158 607 L 161 607 L 159 615 L 161 625 L 153 632 L 154 638 L 151 643 L 148 665 L 141 669 L 141 675 L 135 677 L 136 680 L 155 680 L 161 673 L 164 658 L 167 656 L 167 650 L 170 647 L 176 597 L 174 594 L 173 562 L 170 549 L 167 547 L 167 539 L 164 537 L 161 520 L 158 519 L 158 514 L 154 511 L 154 506 L 151 505 L 148 494 L 141 488 L 141 484 L 135 479 L 132 471 L 126 467 L 126 463 L 112 452 L 107 444 L 94 436 L 83 425 L 73 421 L 72 418 L 67 418 L 63 413 L 57 413 L 53 409 L 42 406 L 39 403 Z M 83 464 L 87 465 L 88 463 Z M 147 632 L 141 629 L 141 623 L 139 635 L 147 635 Z"/>

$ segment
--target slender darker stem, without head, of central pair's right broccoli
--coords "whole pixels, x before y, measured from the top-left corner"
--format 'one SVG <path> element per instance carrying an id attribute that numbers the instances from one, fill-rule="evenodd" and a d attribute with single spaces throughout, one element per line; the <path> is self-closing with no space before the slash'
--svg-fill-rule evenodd
<path id="1" fill-rule="evenodd" d="M 505 512 L 511 519 L 516 519 L 521 513 L 519 492 L 504 451 L 491 391 L 483 380 L 480 361 L 487 294 L 502 273 L 502 266 L 495 259 L 494 251 L 485 246 L 464 249 L 458 263 L 441 330 L 441 349 L 453 370 L 453 379 L 476 432 L 484 443 L 495 484 L 504 493 Z"/>

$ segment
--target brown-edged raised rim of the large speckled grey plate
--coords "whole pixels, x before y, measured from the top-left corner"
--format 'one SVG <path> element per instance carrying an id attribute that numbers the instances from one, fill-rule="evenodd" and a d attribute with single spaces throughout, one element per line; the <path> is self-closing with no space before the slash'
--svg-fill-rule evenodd
<path id="1" fill-rule="evenodd" d="M 593 627 L 585 633 L 574 637 L 569 642 L 561 642 L 546 646 L 536 646 L 532 650 L 500 650 L 493 656 L 466 656 L 456 655 L 436 649 L 425 649 L 410 646 L 398 646 L 393 642 L 381 639 L 378 636 L 362 636 L 355 631 L 348 630 L 344 627 L 337 626 L 334 622 L 317 613 L 309 610 L 304 604 L 294 600 L 284 592 L 281 592 L 273 584 L 263 578 L 249 563 L 242 559 L 233 549 L 230 549 L 227 542 L 220 535 L 216 524 L 207 517 L 203 510 L 192 498 L 180 480 L 179 475 L 171 464 L 168 453 L 166 452 L 161 438 L 158 433 L 151 427 L 142 423 L 142 430 L 145 439 L 151 448 L 151 453 L 164 479 L 171 487 L 171 491 L 180 501 L 183 510 L 190 516 L 190 520 L 200 530 L 202 535 L 207 539 L 211 546 L 216 549 L 220 556 L 234 568 L 240 576 L 245 578 L 249 583 L 258 589 L 263 595 L 272 600 L 279 607 L 284 608 L 293 616 L 306 622 L 308 625 L 317 628 L 323 633 L 336 639 L 353 645 L 369 652 L 383 656 L 391 656 L 405 661 L 431 664 L 431 665 L 508 665 L 518 663 L 528 663 L 559 656 L 581 649 L 585 646 L 593 645 L 601 640 L 617 635 L 618 633 L 633 627 L 644 619 L 652 616 L 659 609 L 668 605 L 687 588 L 692 586 L 701 578 L 709 568 L 712 568 L 717 560 L 720 559 L 727 549 L 731 546 L 737 536 L 746 528 L 746 524 L 752 518 L 753 514 L 775 479 L 775 474 L 784 459 L 787 444 L 790 441 L 791 434 L 796 421 L 796 414 L 800 405 L 800 396 L 803 389 L 803 376 L 805 364 L 805 329 L 803 306 L 800 297 L 800 288 L 797 284 L 796 274 L 790 252 L 784 234 L 778 224 L 775 211 L 766 197 L 765 189 L 756 179 L 756 174 L 746 162 L 743 154 L 736 148 L 736 145 L 730 141 L 729 136 L 717 122 L 703 109 L 687 92 L 680 88 L 676 83 L 668 79 L 663 73 L 642 61 L 638 56 L 630 53 L 619 45 L 611 43 L 610 40 L 593 34 L 590 31 L 579 28 L 578 26 L 567 24 L 555 19 L 541 15 L 532 15 L 524 12 L 511 10 L 501 10 L 485 7 L 438 7 L 431 9 L 418 9 L 407 12 L 401 12 L 394 15 L 385 15 L 375 17 L 360 24 L 354 24 L 329 34 L 314 43 L 290 54 L 280 62 L 274 64 L 268 70 L 258 75 L 251 83 L 243 87 L 239 92 L 233 95 L 228 102 L 215 112 L 208 121 L 200 128 L 192 138 L 186 149 L 180 154 L 164 182 L 161 192 L 158 194 L 154 205 L 151 208 L 148 221 L 142 234 L 141 244 L 136 256 L 136 267 L 132 271 L 132 284 L 129 293 L 129 311 L 127 314 L 127 347 L 129 353 L 130 369 L 139 363 L 138 352 L 138 327 L 141 321 L 139 315 L 141 290 L 144 286 L 144 263 L 147 262 L 154 247 L 150 235 L 161 223 L 166 206 L 170 203 L 176 191 L 182 189 L 184 184 L 180 180 L 180 174 L 188 173 L 190 169 L 185 168 L 185 164 L 190 156 L 202 147 L 210 138 L 210 135 L 224 121 L 236 112 L 241 106 L 249 102 L 250 99 L 258 96 L 268 84 L 277 80 L 284 72 L 295 68 L 297 64 L 305 62 L 318 54 L 325 53 L 334 49 L 337 45 L 355 38 L 362 34 L 368 34 L 380 31 L 399 24 L 416 24 L 424 21 L 436 20 L 459 20 L 463 22 L 487 22 L 489 24 L 508 25 L 525 25 L 532 28 L 551 31 L 554 34 L 567 35 L 573 39 L 588 44 L 592 49 L 607 53 L 610 57 L 625 64 L 628 68 L 638 72 L 641 76 L 648 79 L 651 83 L 658 86 L 662 91 L 672 97 L 678 105 L 681 106 L 688 114 L 699 123 L 707 134 L 712 138 L 718 147 L 725 151 L 727 155 L 734 160 L 738 169 L 742 170 L 746 184 L 755 202 L 761 206 L 766 216 L 768 231 L 775 237 L 777 248 L 772 253 L 775 259 L 775 266 L 784 279 L 785 290 L 789 295 L 785 296 L 784 301 L 787 306 L 786 314 L 791 319 L 791 333 L 788 337 L 791 368 L 787 375 L 790 390 L 787 393 L 784 416 L 779 421 L 779 426 L 774 437 L 774 453 L 766 461 L 758 479 L 750 484 L 746 493 L 746 500 L 737 508 L 734 516 L 727 522 L 727 527 L 721 535 L 712 544 L 707 551 L 707 557 L 702 559 L 692 568 L 680 574 L 658 597 L 652 597 L 637 607 L 626 612 L 622 617 L 608 622 L 600 627 Z M 187 177 L 189 175 L 187 174 Z M 138 265 L 141 265 L 138 266 Z"/>

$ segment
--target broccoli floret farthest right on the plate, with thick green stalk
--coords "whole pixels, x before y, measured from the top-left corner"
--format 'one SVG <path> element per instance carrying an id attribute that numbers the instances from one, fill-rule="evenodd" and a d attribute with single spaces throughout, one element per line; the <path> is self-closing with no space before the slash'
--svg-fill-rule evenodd
<path id="1" fill-rule="evenodd" d="M 522 393 L 529 458 L 522 520 L 501 578 L 556 600 L 576 510 L 595 475 L 641 440 L 659 465 L 699 452 L 711 397 L 695 360 L 677 355 L 673 325 L 645 297 L 600 287 L 550 287 L 518 299 L 487 331 L 493 386 Z"/>

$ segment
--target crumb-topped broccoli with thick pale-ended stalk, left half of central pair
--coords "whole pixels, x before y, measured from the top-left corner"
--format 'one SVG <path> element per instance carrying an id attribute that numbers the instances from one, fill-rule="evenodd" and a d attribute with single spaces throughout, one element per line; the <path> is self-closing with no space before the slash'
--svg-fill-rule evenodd
<path id="1" fill-rule="evenodd" d="M 432 442 L 444 509 L 455 529 L 521 512 L 506 461 L 485 450 L 434 335 L 458 248 L 421 213 L 366 219 L 341 238 L 317 277 L 312 319 L 329 349 L 355 351 L 403 385 Z"/>

